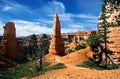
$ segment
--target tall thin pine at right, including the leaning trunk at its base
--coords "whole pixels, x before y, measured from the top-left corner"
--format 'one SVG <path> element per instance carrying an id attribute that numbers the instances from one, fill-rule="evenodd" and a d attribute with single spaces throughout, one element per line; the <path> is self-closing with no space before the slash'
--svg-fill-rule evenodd
<path id="1" fill-rule="evenodd" d="M 109 53 L 109 50 L 107 48 L 107 44 L 110 43 L 108 42 L 108 33 L 110 31 L 108 31 L 108 28 L 109 28 L 109 23 L 107 22 L 107 16 L 106 16 L 106 5 L 110 2 L 111 0 L 104 0 L 103 1 L 103 5 L 102 5 L 102 14 L 100 16 L 100 24 L 99 24 L 99 28 L 98 28 L 98 31 L 99 31 L 99 34 L 101 35 L 101 40 L 103 40 L 103 48 L 102 48 L 102 54 L 104 53 L 105 54 L 105 65 L 104 67 L 107 68 L 107 59 L 109 58 L 109 60 L 112 62 L 112 64 L 117 67 L 114 62 L 111 60 L 111 58 L 108 56 L 108 53 Z M 101 55 L 102 56 L 102 55 Z"/>

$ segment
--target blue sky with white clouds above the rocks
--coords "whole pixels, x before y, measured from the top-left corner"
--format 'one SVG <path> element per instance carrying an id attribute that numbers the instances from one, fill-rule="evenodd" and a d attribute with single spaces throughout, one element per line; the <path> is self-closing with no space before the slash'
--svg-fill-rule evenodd
<path id="1" fill-rule="evenodd" d="M 101 0 L 0 0 L 0 35 L 3 26 L 15 23 L 16 35 L 52 34 L 58 12 L 62 33 L 97 29 Z"/>

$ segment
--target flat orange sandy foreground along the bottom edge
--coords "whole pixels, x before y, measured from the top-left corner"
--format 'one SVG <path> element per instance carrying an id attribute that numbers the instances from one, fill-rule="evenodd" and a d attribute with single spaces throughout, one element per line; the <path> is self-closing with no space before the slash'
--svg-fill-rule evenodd
<path id="1" fill-rule="evenodd" d="M 53 70 L 33 79 L 120 79 L 120 69 L 102 71 L 71 67 Z"/>

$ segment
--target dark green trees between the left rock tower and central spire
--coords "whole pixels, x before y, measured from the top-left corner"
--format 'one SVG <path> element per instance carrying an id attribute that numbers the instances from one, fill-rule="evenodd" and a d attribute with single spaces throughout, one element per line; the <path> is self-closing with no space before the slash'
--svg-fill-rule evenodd
<path id="1" fill-rule="evenodd" d="M 40 39 L 40 42 L 41 45 L 44 45 L 43 46 L 44 48 L 42 49 L 41 49 L 41 45 L 38 46 L 37 44 L 37 37 L 35 34 L 31 36 L 28 46 L 25 46 L 24 42 L 20 42 L 19 43 L 20 54 L 15 58 L 16 61 L 19 63 L 25 63 L 37 59 L 40 57 L 42 51 L 44 51 L 42 52 L 42 56 L 46 55 L 48 53 L 48 48 L 49 48 L 48 36 L 46 34 L 43 34 Z"/>

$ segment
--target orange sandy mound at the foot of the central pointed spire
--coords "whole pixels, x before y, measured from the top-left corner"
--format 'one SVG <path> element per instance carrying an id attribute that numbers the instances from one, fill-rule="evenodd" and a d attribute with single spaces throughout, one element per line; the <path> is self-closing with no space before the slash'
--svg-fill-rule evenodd
<path id="1" fill-rule="evenodd" d="M 53 65 L 57 63 L 64 63 L 71 64 L 71 65 L 77 65 L 81 64 L 83 61 L 88 60 L 89 58 L 92 58 L 93 52 L 90 51 L 90 48 L 82 49 L 73 53 L 70 53 L 65 56 L 58 56 L 53 54 L 48 54 L 44 57 L 45 61 L 51 62 Z"/>

